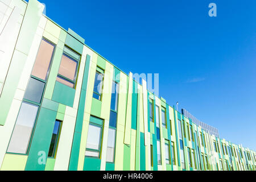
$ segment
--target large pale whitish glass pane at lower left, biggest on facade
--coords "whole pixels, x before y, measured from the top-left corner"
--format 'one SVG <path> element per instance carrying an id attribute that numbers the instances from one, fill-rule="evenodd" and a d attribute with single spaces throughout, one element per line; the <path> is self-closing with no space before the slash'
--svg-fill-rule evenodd
<path id="1" fill-rule="evenodd" d="M 27 104 L 26 102 L 22 103 L 7 152 L 27 153 L 37 113 L 38 106 Z"/>

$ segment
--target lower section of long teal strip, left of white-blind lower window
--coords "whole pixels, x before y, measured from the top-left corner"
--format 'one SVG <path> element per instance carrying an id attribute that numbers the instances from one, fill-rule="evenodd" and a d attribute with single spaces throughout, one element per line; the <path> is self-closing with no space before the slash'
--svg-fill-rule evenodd
<path id="1" fill-rule="evenodd" d="M 68 171 L 77 171 L 77 166 L 79 161 L 80 142 L 81 142 L 81 133 L 75 132 L 73 137 Z"/>

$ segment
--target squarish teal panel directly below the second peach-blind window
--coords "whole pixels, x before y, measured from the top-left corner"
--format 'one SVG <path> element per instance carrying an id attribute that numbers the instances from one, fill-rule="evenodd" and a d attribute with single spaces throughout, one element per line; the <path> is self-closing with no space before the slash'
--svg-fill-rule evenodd
<path id="1" fill-rule="evenodd" d="M 75 89 L 56 81 L 52 100 L 73 107 L 75 93 Z"/>

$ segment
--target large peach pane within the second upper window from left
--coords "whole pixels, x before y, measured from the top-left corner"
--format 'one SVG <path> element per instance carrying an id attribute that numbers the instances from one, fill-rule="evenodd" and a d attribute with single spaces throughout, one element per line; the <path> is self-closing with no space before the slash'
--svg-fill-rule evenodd
<path id="1" fill-rule="evenodd" d="M 77 61 L 71 59 L 66 55 L 62 55 L 59 74 L 68 78 L 69 80 L 75 81 L 76 77 Z"/>

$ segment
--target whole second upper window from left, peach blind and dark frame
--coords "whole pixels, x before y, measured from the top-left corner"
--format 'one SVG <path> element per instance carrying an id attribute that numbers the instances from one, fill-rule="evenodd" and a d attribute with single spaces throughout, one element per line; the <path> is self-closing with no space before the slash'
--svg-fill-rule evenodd
<path id="1" fill-rule="evenodd" d="M 71 49 L 64 47 L 56 81 L 71 88 L 75 88 L 79 61 L 80 55 Z"/>

